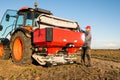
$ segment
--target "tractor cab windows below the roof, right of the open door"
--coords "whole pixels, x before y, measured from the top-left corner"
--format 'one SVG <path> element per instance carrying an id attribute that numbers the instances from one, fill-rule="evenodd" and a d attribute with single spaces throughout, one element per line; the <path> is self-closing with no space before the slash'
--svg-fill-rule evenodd
<path id="1" fill-rule="evenodd" d="M 39 12 L 34 11 L 19 11 L 18 12 L 18 20 L 17 20 L 17 27 L 24 26 L 24 27 L 34 27 L 36 26 L 36 18 L 40 15 Z"/>

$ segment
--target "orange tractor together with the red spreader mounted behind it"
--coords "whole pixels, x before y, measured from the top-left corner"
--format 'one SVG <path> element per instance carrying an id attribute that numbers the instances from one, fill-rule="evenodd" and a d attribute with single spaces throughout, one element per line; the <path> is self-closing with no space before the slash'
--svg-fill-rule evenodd
<path id="1" fill-rule="evenodd" d="M 74 63 L 84 40 L 77 22 L 55 17 L 37 5 L 8 9 L 0 22 L 0 59 L 11 58 L 18 65 Z"/>

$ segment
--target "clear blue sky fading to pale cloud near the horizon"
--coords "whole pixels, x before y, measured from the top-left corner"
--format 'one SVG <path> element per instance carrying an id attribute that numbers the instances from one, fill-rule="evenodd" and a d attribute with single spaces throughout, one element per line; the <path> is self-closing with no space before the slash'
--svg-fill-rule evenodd
<path id="1" fill-rule="evenodd" d="M 23 6 L 50 10 L 54 16 L 92 27 L 92 48 L 120 49 L 120 0 L 1 0 L 0 20 L 7 9 Z"/>

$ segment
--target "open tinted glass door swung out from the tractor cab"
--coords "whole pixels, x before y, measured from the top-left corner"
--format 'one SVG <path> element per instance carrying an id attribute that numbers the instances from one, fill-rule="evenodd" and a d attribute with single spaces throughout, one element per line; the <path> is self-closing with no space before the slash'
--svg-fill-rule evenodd
<path id="1" fill-rule="evenodd" d="M 2 31 L 0 31 L 0 38 L 10 38 L 10 32 L 13 31 L 15 27 L 15 22 L 17 18 L 17 11 L 15 10 L 7 10 L 1 20 L 0 25 L 3 26 Z"/>

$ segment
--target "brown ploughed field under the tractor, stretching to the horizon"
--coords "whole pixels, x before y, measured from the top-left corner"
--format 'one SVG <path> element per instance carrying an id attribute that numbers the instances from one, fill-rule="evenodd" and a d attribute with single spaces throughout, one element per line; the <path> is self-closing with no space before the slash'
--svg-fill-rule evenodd
<path id="1" fill-rule="evenodd" d="M 92 67 L 80 64 L 18 66 L 0 60 L 0 80 L 120 80 L 120 50 L 92 50 Z"/>

